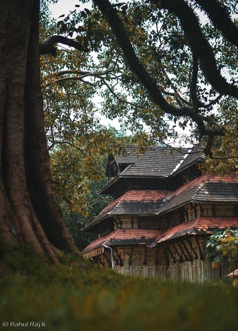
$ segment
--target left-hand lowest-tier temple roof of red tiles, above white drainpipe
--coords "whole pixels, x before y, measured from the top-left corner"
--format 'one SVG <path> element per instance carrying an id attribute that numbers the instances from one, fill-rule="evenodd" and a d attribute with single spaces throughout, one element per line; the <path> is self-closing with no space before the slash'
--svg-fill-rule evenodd
<path id="1" fill-rule="evenodd" d="M 158 236 L 159 230 L 145 229 L 117 229 L 101 238 L 94 240 L 82 253 L 106 245 L 147 245 L 154 241 Z"/>

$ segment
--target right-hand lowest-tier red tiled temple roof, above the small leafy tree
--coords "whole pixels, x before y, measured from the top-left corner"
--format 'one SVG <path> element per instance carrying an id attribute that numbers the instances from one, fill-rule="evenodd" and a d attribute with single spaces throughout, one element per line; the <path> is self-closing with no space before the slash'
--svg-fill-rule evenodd
<path id="1" fill-rule="evenodd" d="M 197 217 L 169 228 L 164 232 L 161 231 L 156 242 L 162 243 L 188 235 L 210 234 L 226 228 L 238 228 L 238 217 Z"/>

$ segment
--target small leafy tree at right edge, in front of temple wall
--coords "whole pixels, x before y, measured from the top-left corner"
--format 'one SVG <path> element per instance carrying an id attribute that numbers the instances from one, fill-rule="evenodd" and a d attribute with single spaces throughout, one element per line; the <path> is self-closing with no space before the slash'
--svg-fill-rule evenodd
<path id="1" fill-rule="evenodd" d="M 216 267 L 223 260 L 230 263 L 232 271 L 238 261 L 238 231 L 225 230 L 214 233 L 205 243 L 206 254 L 211 266 Z"/>

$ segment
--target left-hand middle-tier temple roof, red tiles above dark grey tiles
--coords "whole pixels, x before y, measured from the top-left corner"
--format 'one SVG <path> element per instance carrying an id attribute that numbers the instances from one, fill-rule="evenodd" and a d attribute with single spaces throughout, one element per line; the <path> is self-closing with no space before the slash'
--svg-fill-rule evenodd
<path id="1" fill-rule="evenodd" d="M 149 215 L 155 214 L 167 196 L 167 191 L 131 190 L 112 201 L 87 226 L 88 229 L 102 219 L 113 215 Z"/>

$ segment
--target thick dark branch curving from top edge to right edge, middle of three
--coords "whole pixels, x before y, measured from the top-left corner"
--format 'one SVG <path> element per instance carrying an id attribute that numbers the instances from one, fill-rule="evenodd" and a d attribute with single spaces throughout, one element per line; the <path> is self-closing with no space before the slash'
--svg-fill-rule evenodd
<path id="1" fill-rule="evenodd" d="M 238 98 L 238 88 L 228 84 L 220 75 L 215 57 L 208 41 L 203 37 L 196 15 L 183 0 L 157 0 L 160 8 L 177 16 L 189 45 L 198 56 L 201 69 L 212 87 L 219 93 Z"/>

